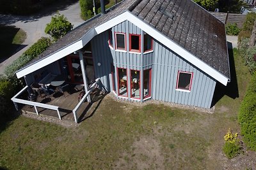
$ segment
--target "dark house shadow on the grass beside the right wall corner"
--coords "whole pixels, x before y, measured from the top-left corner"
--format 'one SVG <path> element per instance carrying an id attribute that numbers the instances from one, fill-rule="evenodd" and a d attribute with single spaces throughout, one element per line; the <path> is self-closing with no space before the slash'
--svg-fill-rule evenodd
<path id="1" fill-rule="evenodd" d="M 236 66 L 234 61 L 234 53 L 232 48 L 232 43 L 227 42 L 228 44 L 228 57 L 230 64 L 230 82 L 227 83 L 227 86 L 222 85 L 220 82 L 216 82 L 216 87 L 214 90 L 214 95 L 212 98 L 211 107 L 214 106 L 223 96 L 228 96 L 232 99 L 239 97 L 238 85 L 237 85 L 237 76 L 236 76 Z"/>

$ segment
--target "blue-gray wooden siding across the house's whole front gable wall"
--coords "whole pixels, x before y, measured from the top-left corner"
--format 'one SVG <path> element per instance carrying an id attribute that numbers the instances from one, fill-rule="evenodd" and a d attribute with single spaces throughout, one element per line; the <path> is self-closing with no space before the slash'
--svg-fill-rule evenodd
<path id="1" fill-rule="evenodd" d="M 154 41 L 153 52 L 143 55 L 129 52 L 129 34 L 141 34 L 141 29 L 128 21 L 122 22 L 111 29 L 113 34 L 113 48 L 109 48 L 108 31 L 102 32 L 92 39 L 92 53 L 95 66 L 95 77 L 100 78 L 108 91 L 113 90 L 111 77 L 111 63 L 116 67 L 127 69 L 127 80 L 130 80 L 130 70 L 152 68 L 152 99 L 171 103 L 186 104 L 202 108 L 210 108 L 216 81 L 202 73 L 195 66 L 189 64 L 168 48 Z M 125 33 L 126 51 L 115 51 L 115 32 Z M 100 62 L 101 65 L 97 66 Z M 116 70 L 115 70 L 116 71 Z M 178 71 L 193 73 L 190 92 L 176 90 Z M 115 74 L 116 76 L 116 74 Z M 117 79 L 117 78 L 116 78 Z M 117 87 L 117 82 L 116 87 Z M 130 89 L 128 82 L 128 89 Z M 128 93 L 128 99 L 131 94 Z"/>

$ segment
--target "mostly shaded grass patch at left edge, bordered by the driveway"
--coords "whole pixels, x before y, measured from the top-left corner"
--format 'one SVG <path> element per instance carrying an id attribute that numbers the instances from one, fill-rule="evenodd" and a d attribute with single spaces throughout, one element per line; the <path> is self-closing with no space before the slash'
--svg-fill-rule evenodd
<path id="1" fill-rule="evenodd" d="M 10 57 L 26 39 L 26 32 L 13 26 L 0 25 L 0 59 Z"/>

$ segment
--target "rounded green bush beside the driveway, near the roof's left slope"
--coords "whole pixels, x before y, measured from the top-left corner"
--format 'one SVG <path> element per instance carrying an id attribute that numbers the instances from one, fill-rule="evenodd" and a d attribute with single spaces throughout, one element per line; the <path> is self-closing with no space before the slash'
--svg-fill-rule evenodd
<path id="1" fill-rule="evenodd" d="M 54 17 L 52 17 L 51 22 L 46 25 L 45 33 L 51 35 L 54 41 L 56 41 L 72 29 L 73 25 L 68 22 L 64 15 L 60 15 L 58 12 L 56 15 L 54 15 Z"/>

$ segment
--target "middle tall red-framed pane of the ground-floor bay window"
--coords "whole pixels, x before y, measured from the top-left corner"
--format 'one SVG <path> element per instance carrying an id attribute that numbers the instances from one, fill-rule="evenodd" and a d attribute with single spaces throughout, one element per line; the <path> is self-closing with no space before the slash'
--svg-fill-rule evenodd
<path id="1" fill-rule="evenodd" d="M 140 71 L 131 70 L 131 98 L 140 99 Z"/>

